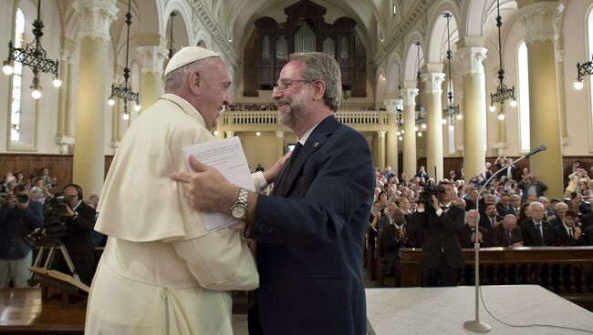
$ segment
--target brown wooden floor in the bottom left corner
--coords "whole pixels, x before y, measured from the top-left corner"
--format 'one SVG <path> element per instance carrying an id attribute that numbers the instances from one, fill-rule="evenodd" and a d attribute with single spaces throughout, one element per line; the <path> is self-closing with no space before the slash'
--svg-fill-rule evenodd
<path id="1" fill-rule="evenodd" d="M 41 301 L 41 289 L 0 289 L 0 334 L 82 334 L 86 306 Z"/>

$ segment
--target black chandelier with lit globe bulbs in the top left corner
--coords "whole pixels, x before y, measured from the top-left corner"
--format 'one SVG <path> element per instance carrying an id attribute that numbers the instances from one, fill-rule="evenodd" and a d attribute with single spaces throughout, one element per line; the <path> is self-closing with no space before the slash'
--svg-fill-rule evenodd
<path id="1" fill-rule="evenodd" d="M 23 66 L 31 67 L 33 71 L 33 85 L 31 88 L 31 96 L 34 99 L 41 97 L 41 85 L 39 84 L 39 72 L 51 73 L 54 75 L 52 84 L 56 87 L 62 85 L 62 81 L 57 76 L 57 68 L 59 62 L 57 60 L 48 59 L 47 52 L 41 46 L 41 36 L 43 36 L 43 22 L 39 19 L 41 11 L 41 0 L 37 1 L 37 18 L 33 21 L 33 35 L 35 39 L 30 44 L 27 44 L 25 48 L 18 47 L 19 41 L 15 41 L 16 46 L 13 42 L 8 42 L 8 59 L 3 63 L 2 71 L 5 75 L 10 76 L 15 72 L 15 62 L 20 63 Z"/>

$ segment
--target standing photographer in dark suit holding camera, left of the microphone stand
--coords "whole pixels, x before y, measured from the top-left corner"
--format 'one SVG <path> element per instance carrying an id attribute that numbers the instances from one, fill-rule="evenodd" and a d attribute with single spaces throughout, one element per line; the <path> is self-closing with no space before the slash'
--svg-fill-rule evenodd
<path id="1" fill-rule="evenodd" d="M 426 232 L 420 266 L 422 285 L 428 287 L 457 285 L 457 274 L 465 263 L 457 239 L 465 213 L 453 206 L 453 184 L 441 181 L 438 196 L 432 196 L 430 204 L 419 204 L 416 218 L 416 225 Z"/>

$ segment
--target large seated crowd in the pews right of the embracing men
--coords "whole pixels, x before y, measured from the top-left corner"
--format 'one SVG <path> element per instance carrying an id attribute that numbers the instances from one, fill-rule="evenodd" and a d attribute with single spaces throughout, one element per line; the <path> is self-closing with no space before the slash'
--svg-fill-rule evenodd
<path id="1" fill-rule="evenodd" d="M 436 183 L 424 167 L 414 176 L 403 173 L 400 177 L 391 167 L 375 167 L 367 252 L 386 262 L 385 274 L 396 276 L 398 285 L 401 248 L 426 249 L 431 244 L 427 241 L 431 239 L 432 225 L 420 222 L 431 213 L 437 215 L 433 220 L 442 219 L 442 226 L 453 221 L 458 249 L 473 248 L 476 239 L 480 247 L 593 246 L 593 201 L 589 201 L 593 198 L 593 184 L 580 162 L 567 172 L 565 198 L 551 199 L 545 196 L 546 184 L 527 167 L 519 173 L 512 163 L 511 158 L 498 157 L 494 167 L 505 171 L 485 187 L 487 178 L 496 172 L 493 164 L 486 163 L 484 174 L 473 176 L 468 183 L 455 178 L 453 170 L 450 179 L 439 181 L 433 210 L 431 198 L 423 199 L 423 193 L 430 193 L 430 185 L 436 187 Z M 442 199 L 438 192 L 445 192 L 442 188 L 447 186 L 453 189 L 453 197 Z M 453 218 L 453 212 L 447 208 L 449 203 L 463 209 L 464 217 Z M 424 215 L 424 208 L 431 210 Z M 448 248 L 442 239 L 446 237 L 443 238 L 443 231 L 436 235 L 441 239 L 436 245 L 444 257 Z"/>

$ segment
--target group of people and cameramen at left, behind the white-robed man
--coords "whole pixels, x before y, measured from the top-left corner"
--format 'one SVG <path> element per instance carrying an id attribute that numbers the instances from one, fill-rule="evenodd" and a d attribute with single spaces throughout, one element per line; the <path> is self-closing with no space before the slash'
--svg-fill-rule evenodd
<path id="1" fill-rule="evenodd" d="M 104 243 L 94 231 L 99 197 L 92 194 L 83 201 L 76 184 L 58 188 L 47 167 L 28 179 L 22 172 L 8 172 L 0 188 L 0 289 L 11 282 L 17 288 L 28 286 L 33 249 L 38 246 L 65 248 L 73 268 L 65 259 L 53 259 L 48 266 L 90 285 L 94 248 Z"/>

